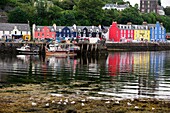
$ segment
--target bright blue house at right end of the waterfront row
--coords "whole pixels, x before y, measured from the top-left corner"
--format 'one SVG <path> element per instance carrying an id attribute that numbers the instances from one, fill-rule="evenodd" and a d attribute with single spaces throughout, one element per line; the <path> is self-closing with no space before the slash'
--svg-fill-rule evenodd
<path id="1" fill-rule="evenodd" d="M 164 42 L 166 41 L 166 29 L 159 22 L 156 24 L 149 24 L 150 41 Z"/>

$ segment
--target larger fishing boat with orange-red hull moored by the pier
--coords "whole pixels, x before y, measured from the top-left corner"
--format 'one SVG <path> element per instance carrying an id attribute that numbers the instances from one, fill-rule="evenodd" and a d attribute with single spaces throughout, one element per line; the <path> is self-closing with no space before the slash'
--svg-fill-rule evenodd
<path id="1" fill-rule="evenodd" d="M 49 44 L 46 46 L 46 56 L 67 57 L 76 56 L 80 48 L 74 44 Z"/>

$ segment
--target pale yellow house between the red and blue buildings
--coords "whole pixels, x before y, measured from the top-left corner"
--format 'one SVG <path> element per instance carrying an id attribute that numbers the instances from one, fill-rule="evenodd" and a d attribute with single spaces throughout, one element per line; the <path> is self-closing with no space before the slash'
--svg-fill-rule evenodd
<path id="1" fill-rule="evenodd" d="M 134 29 L 134 40 L 150 41 L 150 30 L 148 27 L 137 25 Z"/>

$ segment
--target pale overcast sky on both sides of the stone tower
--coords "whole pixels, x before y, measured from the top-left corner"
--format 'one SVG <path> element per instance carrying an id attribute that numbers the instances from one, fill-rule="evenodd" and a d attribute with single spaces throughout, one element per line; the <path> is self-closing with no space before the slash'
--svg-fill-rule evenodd
<path id="1" fill-rule="evenodd" d="M 140 0 L 125 0 L 129 1 L 132 6 L 134 6 L 136 3 L 140 6 Z M 162 6 L 170 6 L 170 0 L 161 0 Z"/>

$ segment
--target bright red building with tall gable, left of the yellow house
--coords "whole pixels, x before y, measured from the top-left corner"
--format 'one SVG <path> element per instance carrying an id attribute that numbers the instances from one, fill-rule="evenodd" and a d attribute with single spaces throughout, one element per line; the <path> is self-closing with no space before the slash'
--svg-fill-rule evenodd
<path id="1" fill-rule="evenodd" d="M 127 25 L 113 22 L 109 29 L 109 39 L 114 42 L 129 42 L 134 40 L 134 29 L 130 23 Z"/>

